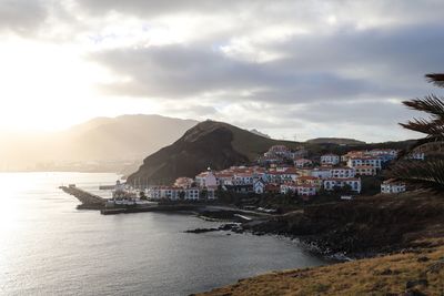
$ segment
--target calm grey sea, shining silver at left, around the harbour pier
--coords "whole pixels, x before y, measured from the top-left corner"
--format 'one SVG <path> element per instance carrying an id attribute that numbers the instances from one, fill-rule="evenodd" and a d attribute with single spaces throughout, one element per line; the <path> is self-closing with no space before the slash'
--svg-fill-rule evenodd
<path id="1" fill-rule="evenodd" d="M 0 173 L 1 295 L 188 295 L 272 269 L 324 264 L 272 236 L 206 233 L 188 215 L 102 216 L 58 190 L 114 174 Z"/>

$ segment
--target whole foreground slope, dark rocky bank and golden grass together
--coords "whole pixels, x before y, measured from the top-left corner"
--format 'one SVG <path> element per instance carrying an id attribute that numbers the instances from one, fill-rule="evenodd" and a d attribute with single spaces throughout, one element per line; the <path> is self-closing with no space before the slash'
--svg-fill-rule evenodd
<path id="1" fill-rule="evenodd" d="M 416 191 L 272 218 L 252 229 L 373 257 L 265 274 L 202 295 L 444 295 L 443 213 L 444 193 Z"/>

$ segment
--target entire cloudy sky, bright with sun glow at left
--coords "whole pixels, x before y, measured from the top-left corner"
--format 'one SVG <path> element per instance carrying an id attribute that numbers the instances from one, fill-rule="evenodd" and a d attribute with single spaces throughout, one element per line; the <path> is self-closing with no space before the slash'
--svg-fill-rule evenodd
<path id="1" fill-rule="evenodd" d="M 1 0 L 0 131 L 95 116 L 225 121 L 275 139 L 418 137 L 440 0 Z"/>

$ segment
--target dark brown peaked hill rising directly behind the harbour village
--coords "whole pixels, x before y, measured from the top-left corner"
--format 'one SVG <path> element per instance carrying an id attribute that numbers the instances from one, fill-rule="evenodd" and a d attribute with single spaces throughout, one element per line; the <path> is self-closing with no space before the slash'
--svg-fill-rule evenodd
<path id="1" fill-rule="evenodd" d="M 296 142 L 268 139 L 228 123 L 201 122 L 172 145 L 148 156 L 128 182 L 168 184 L 179 176 L 193 177 L 209 166 L 222 170 L 252 162 L 278 144 L 300 146 Z"/>

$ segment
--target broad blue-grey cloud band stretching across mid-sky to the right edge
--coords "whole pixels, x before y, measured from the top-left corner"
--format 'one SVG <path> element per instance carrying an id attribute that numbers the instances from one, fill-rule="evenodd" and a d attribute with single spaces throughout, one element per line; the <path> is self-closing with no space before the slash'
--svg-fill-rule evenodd
<path id="1" fill-rule="evenodd" d="M 234 92 L 236 100 L 281 103 L 418 95 L 425 91 L 423 74 L 444 68 L 444 25 L 340 30 L 268 47 L 285 58 L 253 62 L 228 57 L 211 44 L 174 44 L 109 50 L 90 59 L 127 78 L 104 85 L 120 95 L 183 99 Z"/>

